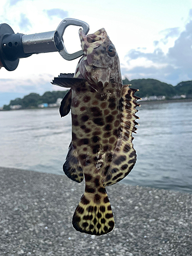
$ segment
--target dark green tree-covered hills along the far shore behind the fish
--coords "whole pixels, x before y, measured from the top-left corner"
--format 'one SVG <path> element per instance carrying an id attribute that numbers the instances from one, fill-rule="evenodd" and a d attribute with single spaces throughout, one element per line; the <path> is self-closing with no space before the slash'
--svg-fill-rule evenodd
<path id="1" fill-rule="evenodd" d="M 166 96 L 166 99 L 170 99 L 175 95 L 186 95 L 188 98 L 192 98 L 192 81 L 180 82 L 177 86 L 160 82 L 155 79 L 134 79 L 129 81 L 125 78 L 123 84 L 132 84 L 132 88 L 139 89 L 136 93 L 139 97 L 148 96 Z M 41 103 L 55 103 L 58 98 L 63 98 L 68 91 L 53 91 L 45 92 L 40 96 L 37 93 L 30 93 L 24 98 L 16 98 L 11 100 L 9 105 L 4 105 L 4 110 L 10 110 L 10 105 L 22 105 L 22 109 L 37 108 Z"/>

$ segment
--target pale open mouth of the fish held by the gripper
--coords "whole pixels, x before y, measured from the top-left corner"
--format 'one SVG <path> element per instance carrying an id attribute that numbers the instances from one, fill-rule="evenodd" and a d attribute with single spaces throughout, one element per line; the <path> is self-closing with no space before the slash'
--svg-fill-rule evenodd
<path id="1" fill-rule="evenodd" d="M 97 48 L 99 47 L 103 41 L 106 39 L 108 35 L 104 28 L 97 30 L 93 34 L 86 35 L 82 29 L 79 29 L 79 37 L 81 40 L 81 48 L 83 52 L 89 48 Z"/>

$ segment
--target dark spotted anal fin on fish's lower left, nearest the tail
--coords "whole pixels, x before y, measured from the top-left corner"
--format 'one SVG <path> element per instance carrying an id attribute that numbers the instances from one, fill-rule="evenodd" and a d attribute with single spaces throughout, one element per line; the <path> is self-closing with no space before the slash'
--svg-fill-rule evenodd
<path id="1" fill-rule="evenodd" d="M 69 145 L 69 152 L 66 157 L 66 162 L 63 164 L 63 172 L 68 176 L 68 178 L 78 183 L 81 182 L 84 177 L 77 152 L 72 142 Z"/>

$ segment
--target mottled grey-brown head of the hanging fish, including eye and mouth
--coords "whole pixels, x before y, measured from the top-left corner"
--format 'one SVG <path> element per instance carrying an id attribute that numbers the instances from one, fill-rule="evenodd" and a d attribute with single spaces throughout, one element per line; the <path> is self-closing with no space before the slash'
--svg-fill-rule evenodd
<path id="1" fill-rule="evenodd" d="M 95 88 L 108 86 L 110 81 L 121 83 L 119 57 L 105 29 L 86 35 L 79 29 L 84 55 L 79 61 L 78 71 Z"/>

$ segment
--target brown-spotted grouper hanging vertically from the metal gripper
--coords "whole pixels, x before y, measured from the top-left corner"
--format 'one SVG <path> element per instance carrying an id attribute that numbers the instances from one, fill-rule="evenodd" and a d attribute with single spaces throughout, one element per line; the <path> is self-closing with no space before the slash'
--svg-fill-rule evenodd
<path id="1" fill-rule="evenodd" d="M 73 181 L 85 179 L 85 191 L 72 224 L 100 236 L 115 221 L 106 186 L 126 177 L 136 162 L 132 133 L 137 130 L 137 89 L 122 84 L 119 57 L 105 29 L 79 30 L 83 56 L 74 74 L 60 74 L 53 84 L 70 88 L 61 101 L 61 117 L 72 116 L 72 141 L 63 171 Z"/>

